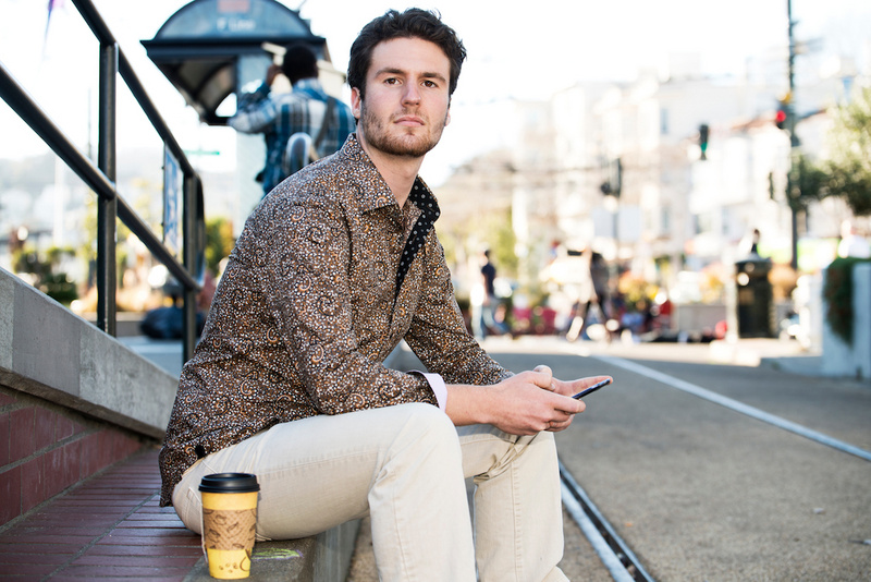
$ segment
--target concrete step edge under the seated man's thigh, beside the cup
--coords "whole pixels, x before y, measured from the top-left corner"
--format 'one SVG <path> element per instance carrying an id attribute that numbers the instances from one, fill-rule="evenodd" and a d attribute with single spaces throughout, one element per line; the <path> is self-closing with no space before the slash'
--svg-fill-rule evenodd
<path id="1" fill-rule="evenodd" d="M 252 556 L 250 582 L 344 582 L 360 521 L 348 521 L 311 537 L 258 542 Z M 206 558 L 200 558 L 184 582 L 210 582 Z"/>

